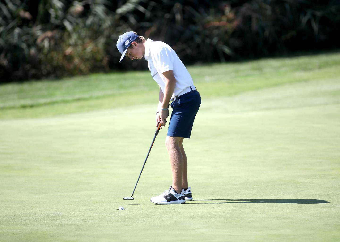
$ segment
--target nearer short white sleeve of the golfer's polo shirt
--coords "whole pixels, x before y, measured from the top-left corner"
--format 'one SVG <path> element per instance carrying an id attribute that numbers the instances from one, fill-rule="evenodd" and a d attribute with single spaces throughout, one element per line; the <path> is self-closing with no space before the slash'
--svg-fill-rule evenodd
<path id="1" fill-rule="evenodd" d="M 173 53 L 169 46 L 159 46 L 152 52 L 154 65 L 159 72 L 163 73 L 173 69 Z"/>

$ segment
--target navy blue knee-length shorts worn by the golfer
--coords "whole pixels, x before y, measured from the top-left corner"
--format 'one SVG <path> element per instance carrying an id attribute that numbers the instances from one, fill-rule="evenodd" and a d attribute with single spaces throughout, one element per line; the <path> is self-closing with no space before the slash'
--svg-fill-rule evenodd
<path id="1" fill-rule="evenodd" d="M 197 90 L 183 94 L 173 100 L 168 136 L 190 139 L 193 121 L 200 105 L 201 96 Z"/>

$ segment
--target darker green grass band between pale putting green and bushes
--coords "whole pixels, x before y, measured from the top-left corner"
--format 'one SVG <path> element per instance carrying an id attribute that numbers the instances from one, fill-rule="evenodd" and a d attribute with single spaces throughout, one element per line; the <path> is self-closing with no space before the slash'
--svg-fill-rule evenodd
<path id="1" fill-rule="evenodd" d="M 199 91 L 209 98 L 285 83 L 335 78 L 338 76 L 339 59 L 340 54 L 334 53 L 192 66 L 188 69 L 195 84 L 200 88 Z M 151 103 L 154 100 L 147 94 L 149 92 L 153 94 L 154 90 L 157 92 L 157 84 L 153 82 L 149 71 L 93 74 L 58 81 L 5 84 L 0 86 L 0 110 L 63 102 L 80 102 L 77 105 L 79 107 L 82 102 L 83 106 L 86 106 L 89 99 L 99 100 L 95 107 L 80 110 L 91 111 L 94 108 L 129 106 L 136 102 Z M 125 102 L 119 99 L 124 99 Z M 70 110 L 77 112 L 72 105 Z M 56 111 L 55 114 L 60 113 Z"/>

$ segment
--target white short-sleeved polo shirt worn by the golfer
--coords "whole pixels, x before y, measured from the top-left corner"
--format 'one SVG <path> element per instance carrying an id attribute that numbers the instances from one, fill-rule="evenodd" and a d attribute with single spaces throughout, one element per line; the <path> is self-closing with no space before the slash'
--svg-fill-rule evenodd
<path id="1" fill-rule="evenodd" d="M 176 52 L 166 43 L 147 39 L 145 42 L 145 59 L 152 78 L 162 89 L 165 89 L 165 77 L 163 72 L 172 70 L 176 79 L 175 89 L 172 97 L 176 97 L 180 92 L 189 86 L 193 86 L 192 78 L 184 64 L 177 56 Z"/>

